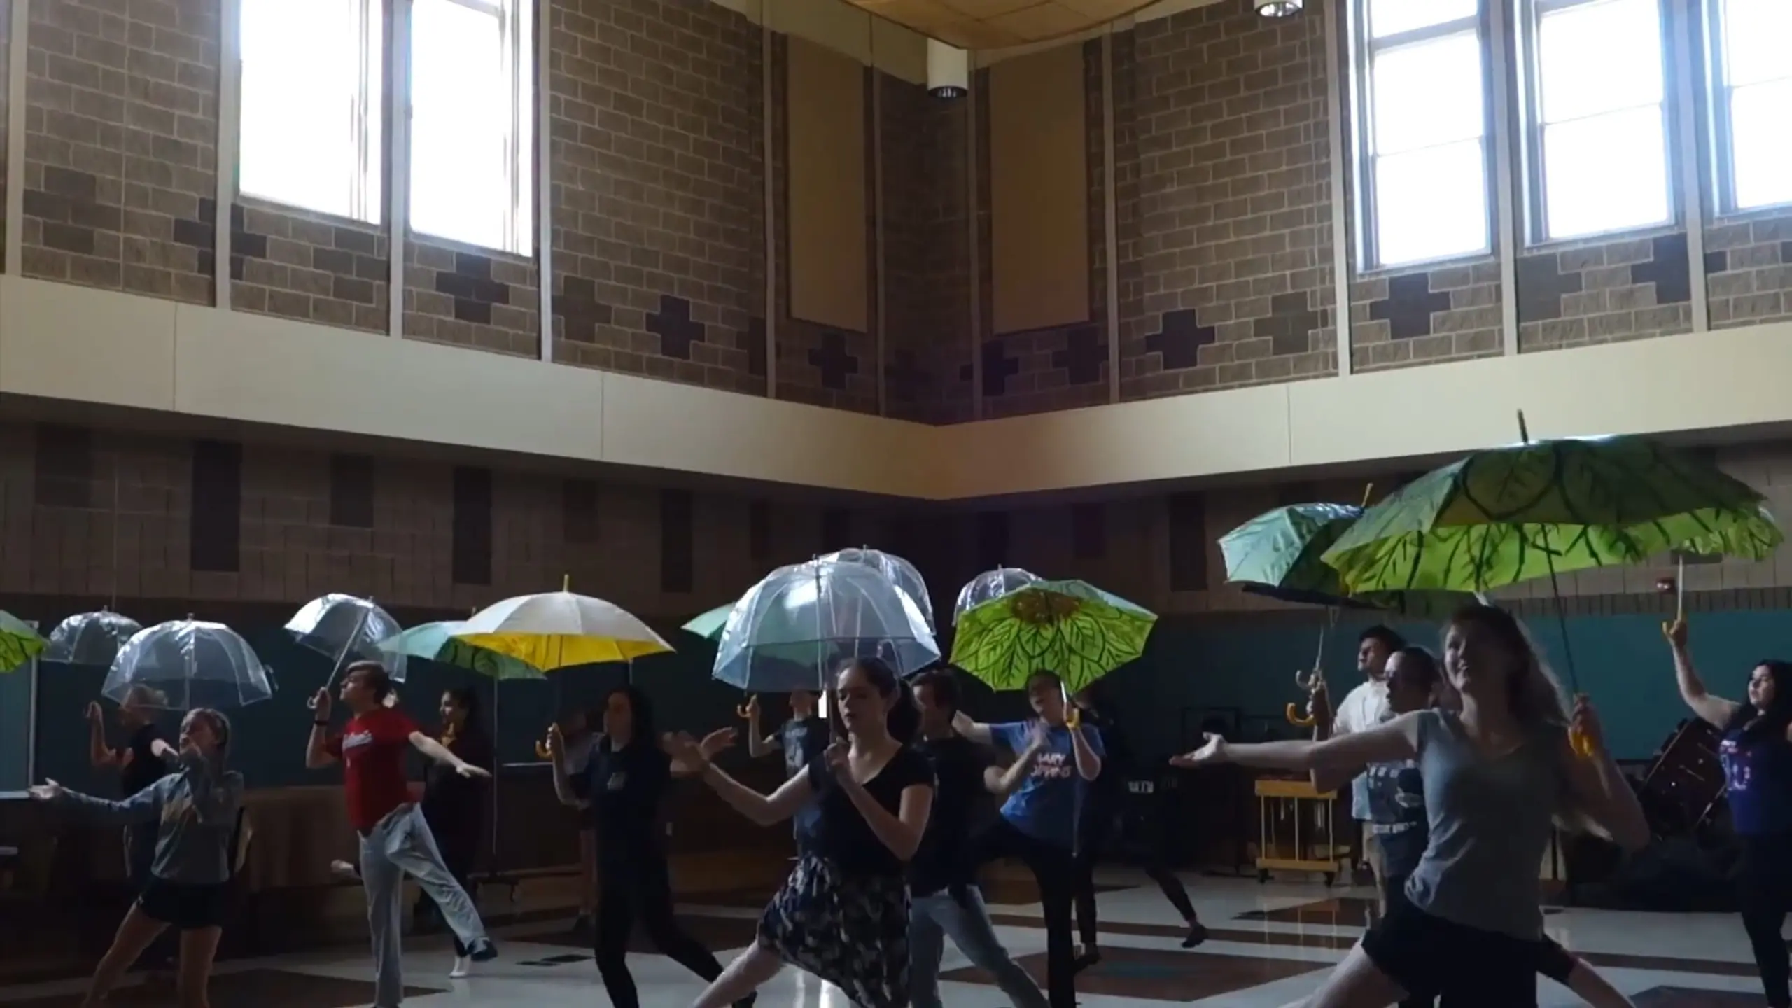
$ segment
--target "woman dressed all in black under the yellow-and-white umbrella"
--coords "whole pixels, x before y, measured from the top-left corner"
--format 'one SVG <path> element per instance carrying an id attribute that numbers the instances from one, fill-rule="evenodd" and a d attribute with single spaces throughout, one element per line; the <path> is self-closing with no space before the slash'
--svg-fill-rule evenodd
<path id="1" fill-rule="evenodd" d="M 722 974 L 715 960 L 672 915 L 672 873 L 667 866 L 665 829 L 659 804 L 674 773 L 690 773 L 690 762 L 676 762 L 654 737 L 654 712 L 647 694 L 633 685 L 611 691 L 604 701 L 604 734 L 591 746 L 586 769 L 590 802 L 597 827 L 597 972 L 616 1008 L 640 1008 L 642 999 L 629 974 L 629 933 L 640 920 L 661 954 L 713 981 Z M 559 759 L 566 739 L 559 726 L 548 728 L 554 764 L 554 793 L 573 805 L 577 793 Z M 706 746 L 711 743 L 706 739 Z M 717 739 L 719 750 L 726 739 Z M 708 762 L 713 752 L 697 746 L 695 759 Z M 737 1004 L 751 1004 L 745 997 Z"/>

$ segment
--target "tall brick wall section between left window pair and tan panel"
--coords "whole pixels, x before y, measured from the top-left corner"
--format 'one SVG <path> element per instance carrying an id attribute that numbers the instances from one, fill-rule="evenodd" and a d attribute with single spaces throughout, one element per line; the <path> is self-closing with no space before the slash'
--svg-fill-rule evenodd
<path id="1" fill-rule="evenodd" d="M 554 359 L 763 395 L 758 29 L 708 0 L 550 18 Z"/>

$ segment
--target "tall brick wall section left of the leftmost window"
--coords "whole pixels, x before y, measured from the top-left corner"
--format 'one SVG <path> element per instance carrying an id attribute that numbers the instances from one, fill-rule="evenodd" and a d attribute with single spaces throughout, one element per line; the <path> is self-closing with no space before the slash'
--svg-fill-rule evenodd
<path id="1" fill-rule="evenodd" d="M 30 4 L 25 276 L 211 303 L 217 32 L 208 0 Z"/>

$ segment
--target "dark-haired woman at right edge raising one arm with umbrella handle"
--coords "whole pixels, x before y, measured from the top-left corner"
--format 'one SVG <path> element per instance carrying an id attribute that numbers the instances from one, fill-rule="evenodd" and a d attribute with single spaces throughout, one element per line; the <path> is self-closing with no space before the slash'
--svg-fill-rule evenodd
<path id="1" fill-rule="evenodd" d="M 1701 721 L 1724 732 L 1729 820 L 1742 845 L 1742 927 L 1770 1008 L 1792 1006 L 1792 961 L 1779 940 L 1792 911 L 1792 664 L 1758 662 L 1749 701 L 1711 696 L 1686 649 L 1686 621 L 1667 628 L 1681 700 Z"/>

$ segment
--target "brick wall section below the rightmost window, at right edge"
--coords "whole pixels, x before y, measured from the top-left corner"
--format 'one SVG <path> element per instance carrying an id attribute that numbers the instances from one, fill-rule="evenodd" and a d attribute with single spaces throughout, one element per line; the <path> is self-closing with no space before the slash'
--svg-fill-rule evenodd
<path id="1" fill-rule="evenodd" d="M 1711 328 L 1792 319 L 1792 213 L 1719 221 L 1704 251 Z"/>

